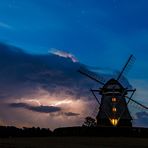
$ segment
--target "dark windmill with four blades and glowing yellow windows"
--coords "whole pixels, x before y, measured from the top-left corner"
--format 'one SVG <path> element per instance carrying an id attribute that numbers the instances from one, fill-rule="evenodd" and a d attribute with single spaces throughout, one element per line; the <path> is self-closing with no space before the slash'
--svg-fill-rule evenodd
<path id="1" fill-rule="evenodd" d="M 134 61 L 134 56 L 130 55 L 121 72 L 117 74 L 117 77 L 111 78 L 107 82 L 102 76 L 96 75 L 96 73 L 86 68 L 79 69 L 81 74 L 98 82 L 102 86 L 99 89 L 90 90 L 99 105 L 99 111 L 96 116 L 98 126 L 132 127 L 133 119 L 128 109 L 130 102 L 144 109 L 148 109 L 143 104 L 132 99 L 136 89 L 132 89 L 129 85 L 126 87 L 122 85 L 125 79 L 124 75 L 130 69 Z M 98 94 L 101 95 L 101 101 L 97 96 Z"/>

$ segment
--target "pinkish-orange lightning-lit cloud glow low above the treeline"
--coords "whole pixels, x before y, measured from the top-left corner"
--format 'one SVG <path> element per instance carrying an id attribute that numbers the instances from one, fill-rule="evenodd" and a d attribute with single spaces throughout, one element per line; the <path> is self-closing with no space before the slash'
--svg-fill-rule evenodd
<path id="1" fill-rule="evenodd" d="M 59 94 L 57 92 L 51 94 L 46 90 L 39 89 L 33 96 L 26 95 L 17 100 L 5 100 L 1 104 L 0 118 L 5 121 L 5 125 L 13 124 L 19 127 L 27 125 L 54 129 L 59 126 L 82 125 L 84 118 L 90 113 L 91 101 L 83 97 L 77 100 L 75 95 L 67 94 L 64 90 L 57 91 Z M 51 112 L 49 108 L 48 111 L 45 111 L 44 108 L 42 111 L 36 110 L 41 106 L 54 106 L 60 110 L 54 112 Z M 9 110 L 13 116 L 10 116 L 10 113 L 5 110 Z M 13 120 L 15 123 L 12 123 Z"/>

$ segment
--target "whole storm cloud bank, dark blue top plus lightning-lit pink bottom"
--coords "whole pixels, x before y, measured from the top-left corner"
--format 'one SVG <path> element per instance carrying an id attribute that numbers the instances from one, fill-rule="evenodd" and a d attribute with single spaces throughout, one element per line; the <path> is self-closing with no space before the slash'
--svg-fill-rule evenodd
<path id="1" fill-rule="evenodd" d="M 77 72 L 86 67 L 79 62 L 52 53 L 31 55 L 0 43 L 0 67 L 0 122 L 4 125 L 52 129 L 81 125 L 98 107 L 89 89 L 100 85 Z"/>

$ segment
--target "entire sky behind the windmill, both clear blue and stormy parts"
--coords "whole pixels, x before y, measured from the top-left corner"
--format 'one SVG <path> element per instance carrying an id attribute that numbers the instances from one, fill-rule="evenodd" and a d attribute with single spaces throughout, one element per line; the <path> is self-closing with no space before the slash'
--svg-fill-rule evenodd
<path id="1" fill-rule="evenodd" d="M 126 77 L 148 106 L 147 0 L 0 1 L 0 124 L 81 125 L 96 106 L 97 84 L 77 69 L 102 75 L 136 58 Z M 135 126 L 148 112 L 131 107 Z"/>

